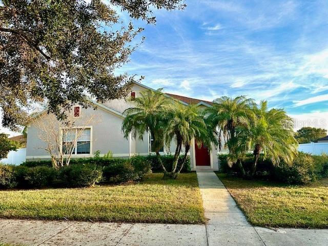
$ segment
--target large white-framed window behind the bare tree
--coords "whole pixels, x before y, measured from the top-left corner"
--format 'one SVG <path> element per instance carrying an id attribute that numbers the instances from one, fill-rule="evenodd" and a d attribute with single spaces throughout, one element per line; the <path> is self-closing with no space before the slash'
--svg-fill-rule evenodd
<path id="1" fill-rule="evenodd" d="M 63 132 L 63 153 L 73 155 L 90 154 L 91 129 L 75 129 Z M 78 139 L 76 136 L 79 135 Z"/>

